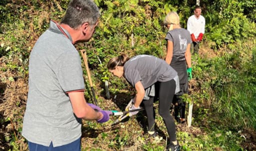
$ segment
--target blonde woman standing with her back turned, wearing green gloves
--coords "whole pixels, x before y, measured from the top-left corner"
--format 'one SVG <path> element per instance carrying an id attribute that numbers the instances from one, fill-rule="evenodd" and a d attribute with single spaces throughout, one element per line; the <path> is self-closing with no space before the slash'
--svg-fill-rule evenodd
<path id="1" fill-rule="evenodd" d="M 165 36 L 167 40 L 167 53 L 165 61 L 173 67 L 179 77 L 180 91 L 174 95 L 174 117 L 180 122 L 185 122 L 185 102 L 181 95 L 188 92 L 188 80 L 192 78 L 191 54 L 190 54 L 190 33 L 181 28 L 179 16 L 176 12 L 169 12 L 164 19 L 164 24 L 168 28 Z"/>

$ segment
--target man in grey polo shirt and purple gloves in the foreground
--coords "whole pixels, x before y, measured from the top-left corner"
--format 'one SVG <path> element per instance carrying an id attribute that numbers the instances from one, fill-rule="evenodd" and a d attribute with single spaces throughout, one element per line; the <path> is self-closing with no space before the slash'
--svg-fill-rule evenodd
<path id="1" fill-rule="evenodd" d="M 81 119 L 109 119 L 111 111 L 85 101 L 81 61 L 73 45 L 91 38 L 99 16 L 93 1 L 72 0 L 60 24 L 51 20 L 36 41 L 22 129 L 30 151 L 80 150 Z"/>

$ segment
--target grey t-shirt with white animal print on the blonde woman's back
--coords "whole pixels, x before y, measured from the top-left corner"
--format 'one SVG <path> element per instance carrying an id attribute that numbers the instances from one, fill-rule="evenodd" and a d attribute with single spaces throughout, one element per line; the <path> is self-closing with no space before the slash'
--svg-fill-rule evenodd
<path id="1" fill-rule="evenodd" d="M 189 31 L 184 28 L 169 30 L 165 39 L 173 42 L 172 57 L 175 59 L 184 57 L 187 44 L 192 42 Z"/>

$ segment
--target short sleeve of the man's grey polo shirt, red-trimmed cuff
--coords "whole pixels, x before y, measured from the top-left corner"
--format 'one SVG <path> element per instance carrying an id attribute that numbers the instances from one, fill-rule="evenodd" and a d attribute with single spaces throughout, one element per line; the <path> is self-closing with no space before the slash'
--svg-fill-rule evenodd
<path id="1" fill-rule="evenodd" d="M 84 89 L 81 60 L 78 53 L 61 54 L 55 61 L 54 72 L 63 91 Z"/>

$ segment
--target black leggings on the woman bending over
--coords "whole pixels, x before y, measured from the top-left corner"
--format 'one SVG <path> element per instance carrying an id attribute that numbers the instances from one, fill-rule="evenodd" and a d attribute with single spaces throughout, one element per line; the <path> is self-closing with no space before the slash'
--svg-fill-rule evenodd
<path id="1" fill-rule="evenodd" d="M 158 112 L 162 117 L 165 126 L 167 128 L 170 141 L 176 140 L 176 125 L 170 114 L 169 107 L 172 103 L 172 98 L 175 92 L 176 83 L 175 81 L 169 80 L 166 82 L 159 82 L 159 108 Z M 148 130 L 154 130 L 154 109 L 153 109 L 153 97 L 150 97 L 149 100 L 143 100 L 143 104 L 146 111 Z"/>

